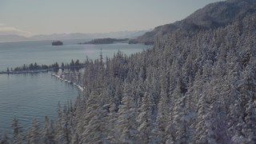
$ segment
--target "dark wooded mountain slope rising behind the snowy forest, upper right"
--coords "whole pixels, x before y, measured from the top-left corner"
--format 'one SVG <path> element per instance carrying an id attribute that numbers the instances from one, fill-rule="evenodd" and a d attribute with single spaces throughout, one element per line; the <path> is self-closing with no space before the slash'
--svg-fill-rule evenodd
<path id="1" fill-rule="evenodd" d="M 130 43 L 153 44 L 155 38 L 165 36 L 175 30 L 184 30 L 186 33 L 202 29 L 216 29 L 220 26 L 227 26 L 235 19 L 243 18 L 246 14 L 252 14 L 255 11 L 255 0 L 227 0 L 211 3 L 181 21 L 158 26 L 154 30 L 130 40 Z"/>

